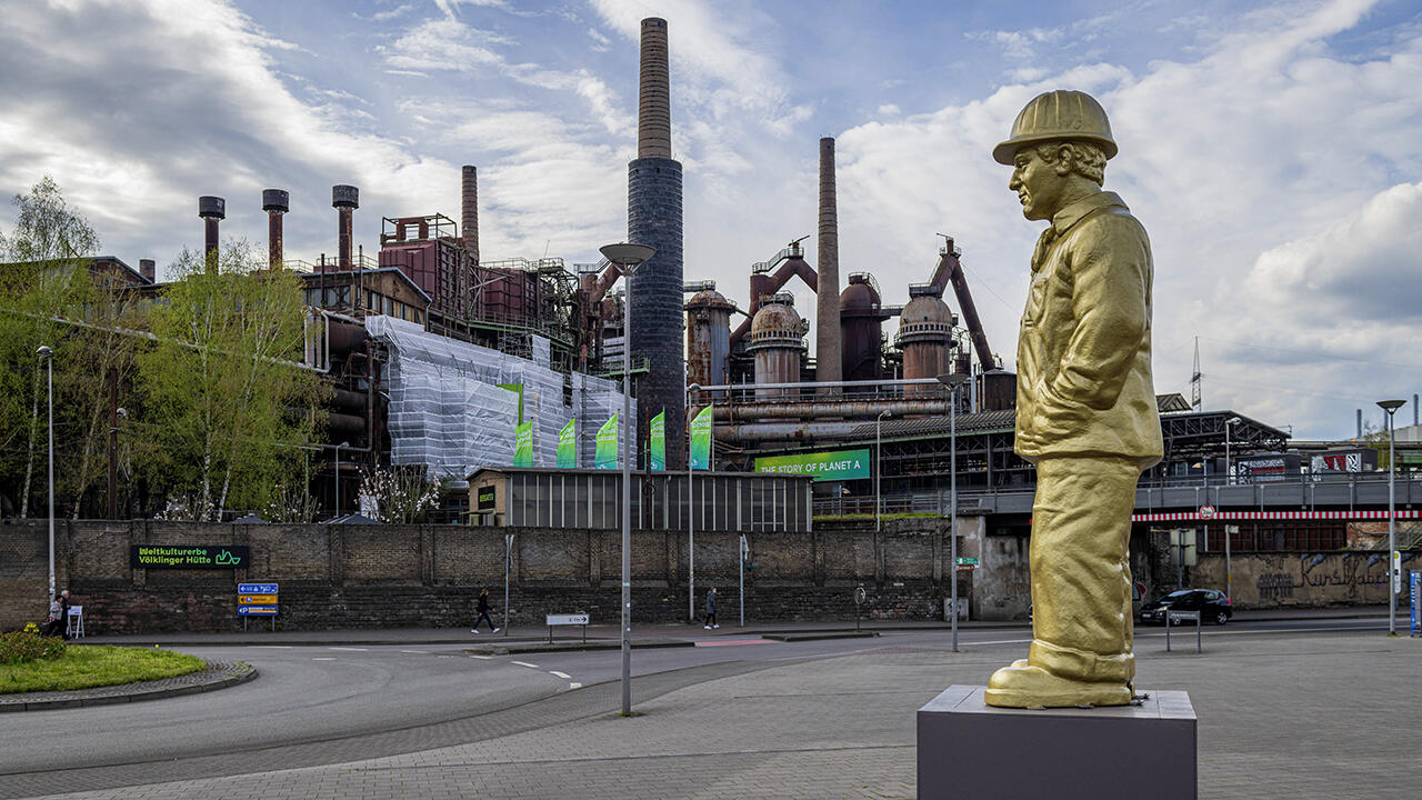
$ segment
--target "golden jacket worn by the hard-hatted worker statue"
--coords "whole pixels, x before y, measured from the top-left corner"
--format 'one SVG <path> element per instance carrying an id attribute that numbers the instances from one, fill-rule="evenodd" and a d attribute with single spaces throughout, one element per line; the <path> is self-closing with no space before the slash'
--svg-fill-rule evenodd
<path id="1" fill-rule="evenodd" d="M 1162 456 L 1150 380 L 1150 280 L 1145 228 L 1115 192 L 1052 216 L 1032 255 L 1017 343 L 1017 453 Z"/>

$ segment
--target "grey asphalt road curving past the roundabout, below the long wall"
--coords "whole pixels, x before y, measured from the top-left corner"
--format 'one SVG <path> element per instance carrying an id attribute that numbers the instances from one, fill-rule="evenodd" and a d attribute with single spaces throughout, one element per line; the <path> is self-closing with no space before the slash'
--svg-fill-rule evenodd
<path id="1" fill-rule="evenodd" d="M 1206 626 L 1204 635 L 1210 648 L 1212 641 L 1221 643 L 1219 638 L 1385 629 L 1385 619 L 1327 619 Z M 950 646 L 941 628 L 815 642 L 721 633 L 694 648 L 636 651 L 634 702 L 758 669 Z M 1177 648 L 1193 649 L 1193 629 L 1177 628 L 1173 635 L 1180 638 Z M 1136 649 L 1163 651 L 1163 628 L 1140 628 Z M 1028 641 L 1025 626 L 960 632 L 964 658 L 977 653 L 985 662 L 1025 652 Z M 206 695 L 3 715 L 0 797 L 348 763 L 464 744 L 606 713 L 614 705 L 573 689 L 620 676 L 617 651 L 491 658 L 469 656 L 456 645 L 182 649 L 253 663 L 260 678 Z M 563 702 L 535 703 L 550 698 Z"/>

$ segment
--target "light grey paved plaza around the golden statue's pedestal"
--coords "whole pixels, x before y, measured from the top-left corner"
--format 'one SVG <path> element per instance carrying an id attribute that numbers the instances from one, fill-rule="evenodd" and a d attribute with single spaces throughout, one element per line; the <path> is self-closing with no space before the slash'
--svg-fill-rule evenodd
<path id="1" fill-rule="evenodd" d="M 1166 653 L 1160 633 L 1138 641 L 1139 686 L 1190 693 L 1200 797 L 1418 796 L 1422 639 L 1227 628 L 1207 629 L 1197 655 L 1193 636 Z M 835 658 L 691 668 L 640 679 L 634 719 L 613 713 L 613 682 L 465 720 L 465 744 L 54 797 L 909 799 L 916 709 L 950 683 L 981 683 L 1024 652 L 1021 635 L 961 653 L 946 636 L 886 636 Z M 961 769 L 1024 769 L 1027 756 Z M 162 780 L 162 764 L 148 774 Z"/>

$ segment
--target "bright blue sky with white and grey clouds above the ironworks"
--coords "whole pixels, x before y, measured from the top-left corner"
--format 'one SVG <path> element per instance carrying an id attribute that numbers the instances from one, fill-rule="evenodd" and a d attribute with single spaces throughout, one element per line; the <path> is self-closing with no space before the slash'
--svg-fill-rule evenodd
<path id="1" fill-rule="evenodd" d="M 815 232 L 832 135 L 842 275 L 903 303 L 953 235 L 1011 366 L 1041 223 L 988 152 L 1079 88 L 1155 248 L 1158 391 L 1189 394 L 1196 337 L 1207 407 L 1300 437 L 1422 391 L 1415 0 L 0 0 L 0 192 L 50 174 L 104 252 L 162 272 L 202 243 L 198 195 L 260 245 L 260 191 L 289 189 L 310 260 L 356 184 L 373 255 L 381 216 L 458 219 L 475 164 L 486 260 L 594 260 L 626 233 L 644 16 L 670 26 L 688 279 L 744 305 L 749 265 Z"/>

